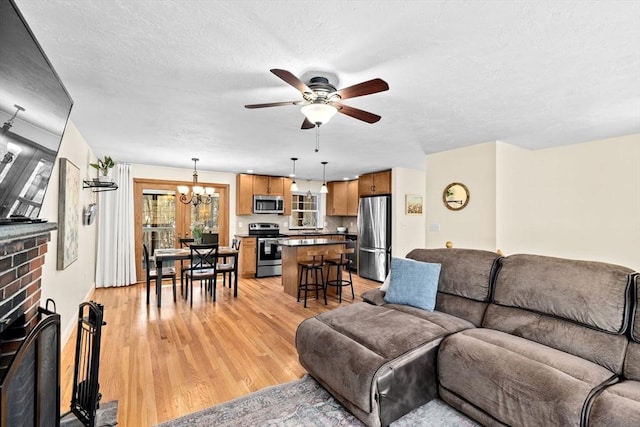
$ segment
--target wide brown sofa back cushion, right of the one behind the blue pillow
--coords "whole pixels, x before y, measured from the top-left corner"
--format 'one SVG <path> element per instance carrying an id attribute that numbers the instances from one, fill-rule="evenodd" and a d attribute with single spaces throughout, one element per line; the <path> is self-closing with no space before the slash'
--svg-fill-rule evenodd
<path id="1" fill-rule="evenodd" d="M 494 302 L 623 334 L 633 270 L 592 261 L 511 255 L 501 261 Z"/>

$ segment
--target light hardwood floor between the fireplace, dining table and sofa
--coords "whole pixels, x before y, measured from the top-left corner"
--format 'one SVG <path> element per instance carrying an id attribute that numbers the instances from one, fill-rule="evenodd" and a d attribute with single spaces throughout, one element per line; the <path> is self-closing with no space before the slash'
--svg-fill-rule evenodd
<path id="1" fill-rule="evenodd" d="M 355 302 L 380 284 L 354 275 Z M 178 285 L 179 286 L 179 285 Z M 146 305 L 143 283 L 96 289 L 104 304 L 100 356 L 102 401 L 118 400 L 118 425 L 153 426 L 261 388 L 300 378 L 294 336 L 298 324 L 342 304 L 311 295 L 307 308 L 282 291 L 280 277 L 240 279 L 238 298 L 218 284 L 217 302 L 196 284 L 193 308 L 173 302 L 170 283 L 162 287 L 162 308 Z M 75 334 L 64 345 L 61 411 L 69 410 Z"/>

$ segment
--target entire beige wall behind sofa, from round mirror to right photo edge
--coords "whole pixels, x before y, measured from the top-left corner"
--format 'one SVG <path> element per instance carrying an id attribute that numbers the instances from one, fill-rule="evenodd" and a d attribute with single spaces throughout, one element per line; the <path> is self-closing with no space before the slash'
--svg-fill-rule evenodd
<path id="1" fill-rule="evenodd" d="M 451 240 L 640 270 L 640 134 L 538 151 L 492 142 L 429 155 L 426 165 L 427 247 Z M 451 181 L 471 193 L 460 212 L 441 201 Z"/>

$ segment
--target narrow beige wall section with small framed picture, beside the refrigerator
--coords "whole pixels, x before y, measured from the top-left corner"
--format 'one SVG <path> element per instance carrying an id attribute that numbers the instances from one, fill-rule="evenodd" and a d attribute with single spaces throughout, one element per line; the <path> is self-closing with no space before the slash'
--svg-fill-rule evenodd
<path id="1" fill-rule="evenodd" d="M 393 211 L 391 213 L 391 254 L 404 257 L 412 249 L 425 246 L 425 206 L 422 215 L 406 215 L 407 194 L 425 196 L 425 172 L 421 170 L 395 168 L 392 170 Z"/>

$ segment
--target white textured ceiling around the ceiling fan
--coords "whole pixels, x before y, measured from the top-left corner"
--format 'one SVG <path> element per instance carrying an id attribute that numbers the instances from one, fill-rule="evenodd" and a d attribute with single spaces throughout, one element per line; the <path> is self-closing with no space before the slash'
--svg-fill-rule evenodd
<path id="1" fill-rule="evenodd" d="M 640 1 L 15 0 L 98 156 L 341 179 L 501 140 L 539 149 L 640 132 Z M 269 72 L 382 78 L 301 130 Z"/>

